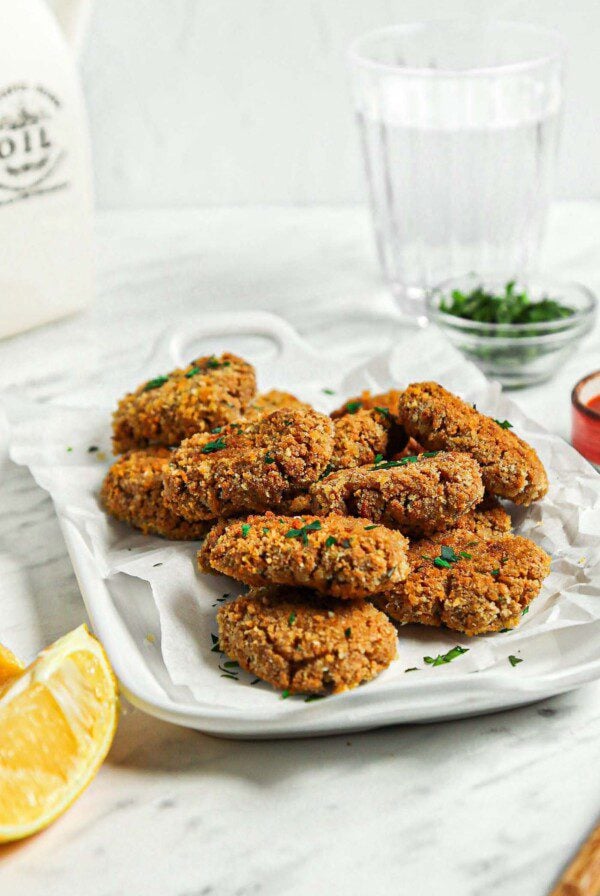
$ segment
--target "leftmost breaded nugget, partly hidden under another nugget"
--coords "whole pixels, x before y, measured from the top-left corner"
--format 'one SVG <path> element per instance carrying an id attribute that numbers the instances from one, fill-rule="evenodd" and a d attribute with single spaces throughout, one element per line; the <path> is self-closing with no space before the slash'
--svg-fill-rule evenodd
<path id="1" fill-rule="evenodd" d="M 208 523 L 188 523 L 163 504 L 163 473 L 170 460 L 171 452 L 160 445 L 124 454 L 106 474 L 102 503 L 115 519 L 147 535 L 186 541 L 202 538 Z"/>

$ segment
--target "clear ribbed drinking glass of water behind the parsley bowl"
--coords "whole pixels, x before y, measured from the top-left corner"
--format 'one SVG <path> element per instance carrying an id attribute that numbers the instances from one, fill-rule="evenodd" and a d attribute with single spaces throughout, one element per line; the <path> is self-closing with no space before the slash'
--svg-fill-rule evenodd
<path id="1" fill-rule="evenodd" d="M 449 277 L 535 270 L 563 55 L 558 33 L 510 22 L 398 25 L 350 48 L 377 248 L 404 310 Z"/>

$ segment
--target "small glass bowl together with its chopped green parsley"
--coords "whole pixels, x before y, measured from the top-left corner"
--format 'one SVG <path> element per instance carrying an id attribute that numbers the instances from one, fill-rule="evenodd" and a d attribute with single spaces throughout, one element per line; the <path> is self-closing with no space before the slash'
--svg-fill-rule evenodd
<path id="1" fill-rule="evenodd" d="M 596 304 L 578 283 L 470 274 L 434 289 L 427 312 L 486 376 L 519 388 L 552 376 L 589 332 Z"/>

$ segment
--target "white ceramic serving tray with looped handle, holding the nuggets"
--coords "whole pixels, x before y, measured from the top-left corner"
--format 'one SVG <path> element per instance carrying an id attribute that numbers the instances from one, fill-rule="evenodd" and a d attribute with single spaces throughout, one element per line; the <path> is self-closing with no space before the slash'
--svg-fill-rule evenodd
<path id="1" fill-rule="evenodd" d="M 418 331 L 415 331 L 414 336 L 405 340 L 402 348 L 404 364 L 406 354 L 410 354 L 414 348 L 415 375 L 411 378 L 417 380 L 425 378 L 420 338 Z M 433 334 L 428 339 L 428 345 L 431 348 L 427 364 L 429 378 L 438 378 L 436 363 L 443 354 L 445 370 L 450 371 L 450 380 L 455 376 L 459 379 L 462 377 L 475 384 L 475 391 L 483 388 L 482 384 L 489 391 L 489 385 L 485 384 L 481 374 L 462 358 L 452 355 L 449 364 L 445 347 L 439 349 L 441 354 L 438 358 Z M 209 352 L 218 353 L 224 348 L 244 354 L 256 364 L 261 389 L 288 389 L 314 403 L 318 403 L 316 396 L 322 392 L 321 387 L 339 384 L 348 369 L 347 360 L 342 364 L 335 352 L 327 358 L 318 355 L 279 318 L 247 313 L 208 316 L 199 326 L 194 327 L 193 335 L 188 330 L 185 334 L 169 336 L 154 353 L 152 369 L 144 371 L 144 374 L 151 375 L 153 370 L 159 369 L 158 356 L 162 359 L 162 369 L 167 362 L 171 365 L 180 364 L 200 351 L 208 349 Z M 350 384 L 375 385 L 378 382 L 380 386 L 389 388 L 394 383 L 391 380 L 382 383 L 382 371 L 385 369 L 386 364 L 381 358 L 374 359 L 367 368 L 362 368 L 360 376 L 350 378 Z M 125 384 L 127 385 L 132 386 L 134 383 Z M 451 383 L 448 385 L 452 387 Z M 348 389 L 347 382 L 343 393 L 325 401 L 330 406 L 335 406 L 346 397 Z M 499 391 L 496 390 L 495 394 L 498 396 Z M 511 419 L 519 420 L 525 425 L 526 418 L 516 406 L 505 397 L 497 397 L 497 401 L 504 414 L 509 413 Z M 8 416 L 11 417 L 10 408 Z M 591 468 L 588 469 L 572 449 L 567 449 L 560 439 L 544 433 L 531 421 L 529 423 L 532 431 L 539 434 L 542 447 L 546 446 L 544 450 L 548 450 L 547 446 L 550 446 L 552 453 L 562 458 L 558 464 L 560 469 L 550 471 L 550 475 L 571 477 L 575 470 L 587 483 L 590 508 L 592 505 L 600 507 L 600 504 L 595 503 L 600 495 L 600 478 Z M 108 423 L 106 430 L 108 432 Z M 51 436 L 48 438 L 51 441 Z M 226 737 L 324 735 L 397 723 L 440 721 L 507 709 L 568 691 L 600 677 L 600 604 L 598 616 L 587 609 L 580 610 L 579 604 L 576 604 L 572 617 L 558 624 L 556 606 L 550 602 L 543 613 L 538 614 L 539 623 L 535 621 L 535 610 L 532 608 L 532 619 L 528 617 L 525 623 L 529 627 L 527 644 L 531 661 L 519 664 L 516 669 L 508 662 L 496 660 L 489 668 L 470 668 L 466 671 L 467 664 L 461 666 L 461 658 L 449 666 L 435 669 L 425 667 L 410 675 L 389 675 L 388 670 L 376 682 L 316 702 L 305 703 L 302 698 L 282 700 L 277 693 L 266 687 L 265 693 L 256 700 L 254 698 L 257 697 L 257 692 L 250 689 L 248 681 L 227 682 L 226 686 L 220 681 L 220 676 L 215 675 L 218 656 L 207 650 L 201 652 L 200 662 L 206 664 L 206 686 L 210 691 L 210 699 L 198 697 L 198 691 L 194 696 L 190 688 L 173 683 L 164 662 L 160 617 L 148 581 L 124 571 L 115 572 L 114 569 L 108 574 L 106 567 L 103 568 L 98 562 L 97 553 L 86 537 L 77 514 L 73 512 L 73 504 L 77 502 L 76 495 L 71 490 L 67 499 L 53 490 L 49 484 L 49 466 L 44 466 L 39 456 L 34 456 L 35 452 L 30 457 L 23 444 L 23 439 L 19 442 L 18 437 L 15 437 L 11 454 L 17 462 L 28 464 L 38 482 L 52 494 L 93 631 L 106 648 L 122 690 L 134 705 L 159 718 Z M 589 480 L 587 477 L 590 477 Z M 526 531 L 527 513 L 532 512 L 526 512 L 525 517 L 522 513 L 516 514 L 517 522 L 524 524 Z M 596 510 L 592 512 L 595 514 Z M 539 516 L 539 508 L 535 513 Z M 594 520 L 594 525 L 597 523 L 600 526 L 600 520 L 596 517 Z M 536 525 L 541 523 L 538 521 Z M 573 550 L 580 551 L 577 537 L 574 536 L 574 539 Z M 164 541 L 157 539 L 148 539 L 146 544 L 152 550 L 152 546 L 156 544 L 156 551 L 162 551 L 165 556 L 167 551 L 187 552 L 190 563 L 192 562 L 194 546 L 173 546 L 170 543 L 165 546 Z M 568 553 L 566 550 L 565 557 Z M 567 563 L 566 560 L 561 560 L 561 563 L 564 569 L 574 568 L 571 561 Z M 600 582 L 594 572 L 593 586 L 588 579 L 582 578 L 580 589 L 575 581 L 579 581 L 578 576 L 579 573 L 574 574 L 572 588 L 577 592 L 581 590 L 581 601 L 585 605 L 590 594 L 595 594 L 600 587 Z M 231 592 L 235 590 L 231 583 L 226 587 Z M 563 581 L 561 587 L 563 591 L 571 590 L 569 581 L 566 584 Z M 195 593 L 190 594 L 190 600 L 210 607 L 215 595 L 223 590 L 223 580 L 211 582 L 209 577 L 205 583 L 198 578 L 197 583 L 192 585 L 192 590 Z M 579 599 L 579 594 L 575 596 Z M 216 611 L 210 609 L 209 612 L 214 615 Z M 538 624 L 539 634 L 535 629 Z M 149 632 L 156 632 L 156 639 L 148 639 Z M 507 656 L 519 649 L 521 642 L 518 633 L 520 629 L 507 635 L 490 637 L 506 639 Z M 428 639 L 439 636 L 439 632 L 432 634 L 424 628 L 410 627 L 410 634 L 404 635 L 404 639 L 412 639 L 413 653 L 416 650 L 419 654 L 428 654 L 431 652 Z M 469 641 L 456 634 L 447 636 L 448 646 L 479 640 Z M 488 639 L 484 640 L 491 643 Z M 504 642 L 494 641 L 495 645 L 498 643 Z M 402 659 L 398 662 L 402 662 Z M 462 671 L 463 668 L 465 671 Z M 232 688 L 236 689 L 235 692 Z M 244 700 L 245 693 L 248 693 L 247 701 Z"/>

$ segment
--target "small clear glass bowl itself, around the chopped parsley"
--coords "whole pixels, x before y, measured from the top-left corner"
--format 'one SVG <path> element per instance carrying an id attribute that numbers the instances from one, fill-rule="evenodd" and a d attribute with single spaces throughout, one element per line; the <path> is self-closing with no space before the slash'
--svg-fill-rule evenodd
<path id="1" fill-rule="evenodd" d="M 486 376 L 499 380 L 506 389 L 519 389 L 550 379 L 573 354 L 592 328 L 597 301 L 579 283 L 539 277 L 517 281 L 515 291 L 526 289 L 534 302 L 545 297 L 556 299 L 574 309 L 571 317 L 531 324 L 487 324 L 440 310 L 442 299 L 449 298 L 455 289 L 470 293 L 483 286 L 486 291 L 502 294 L 506 283 L 506 278 L 476 274 L 445 280 L 427 296 L 427 317 Z"/>

